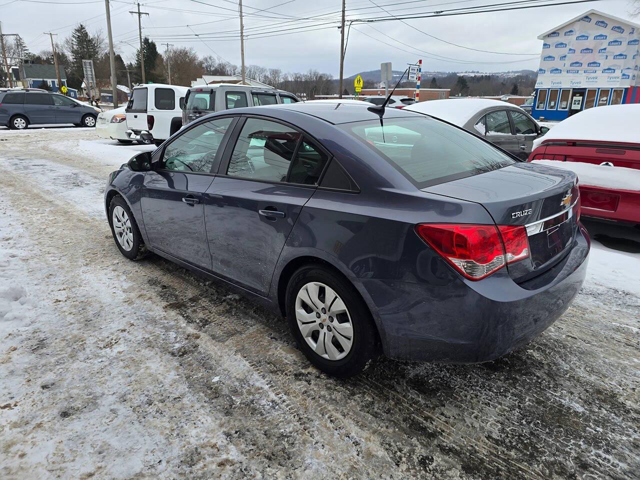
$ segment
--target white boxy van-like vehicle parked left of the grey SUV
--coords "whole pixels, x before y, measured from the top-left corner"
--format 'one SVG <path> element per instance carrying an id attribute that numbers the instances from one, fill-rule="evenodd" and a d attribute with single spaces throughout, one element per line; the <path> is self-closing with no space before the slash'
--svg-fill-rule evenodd
<path id="1" fill-rule="evenodd" d="M 148 83 L 134 87 L 125 109 L 127 137 L 159 145 L 182 127 L 186 86 Z M 141 137 L 144 134 L 144 138 Z M 150 134 L 150 138 L 148 136 Z"/>

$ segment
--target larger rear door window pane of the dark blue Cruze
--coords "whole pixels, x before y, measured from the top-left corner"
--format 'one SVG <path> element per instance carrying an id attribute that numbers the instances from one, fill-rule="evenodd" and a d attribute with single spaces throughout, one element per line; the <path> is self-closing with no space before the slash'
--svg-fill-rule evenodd
<path id="1" fill-rule="evenodd" d="M 285 125 L 248 118 L 231 154 L 227 175 L 285 182 L 300 136 Z"/>

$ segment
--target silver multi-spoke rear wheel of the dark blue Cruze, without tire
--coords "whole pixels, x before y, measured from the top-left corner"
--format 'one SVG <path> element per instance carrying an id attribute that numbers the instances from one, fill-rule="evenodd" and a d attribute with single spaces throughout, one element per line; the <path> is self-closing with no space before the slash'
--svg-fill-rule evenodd
<path id="1" fill-rule="evenodd" d="M 296 321 L 303 339 L 317 355 L 341 360 L 353 346 L 353 324 L 344 301 L 321 282 L 304 285 L 296 296 Z"/>

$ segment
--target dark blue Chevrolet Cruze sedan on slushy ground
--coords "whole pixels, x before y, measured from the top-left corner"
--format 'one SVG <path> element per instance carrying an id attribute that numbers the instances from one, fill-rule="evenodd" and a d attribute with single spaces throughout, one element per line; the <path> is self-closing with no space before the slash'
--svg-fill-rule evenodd
<path id="1" fill-rule="evenodd" d="M 426 115 L 363 102 L 233 109 L 109 177 L 125 257 L 147 251 L 283 314 L 335 376 L 392 358 L 486 362 L 584 280 L 577 178 Z"/>

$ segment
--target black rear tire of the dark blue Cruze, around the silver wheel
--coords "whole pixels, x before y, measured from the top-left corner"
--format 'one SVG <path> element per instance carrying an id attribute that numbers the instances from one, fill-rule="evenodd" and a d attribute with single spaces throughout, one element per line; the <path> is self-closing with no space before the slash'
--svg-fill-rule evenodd
<path id="1" fill-rule="evenodd" d="M 351 316 L 353 326 L 353 344 L 348 355 L 340 360 L 329 360 L 318 355 L 303 338 L 296 320 L 296 297 L 302 287 L 309 282 L 321 282 L 332 288 L 344 301 Z M 371 360 L 380 355 L 378 332 L 369 308 L 355 287 L 346 278 L 324 266 L 312 264 L 298 269 L 289 280 L 285 298 L 289 329 L 298 344 L 298 348 L 318 369 L 338 378 L 348 378 L 364 371 Z M 330 325 L 327 323 L 327 325 Z"/>

